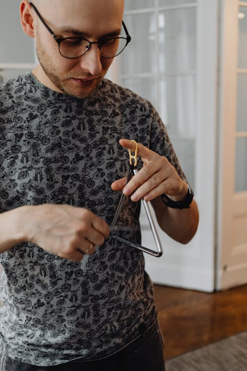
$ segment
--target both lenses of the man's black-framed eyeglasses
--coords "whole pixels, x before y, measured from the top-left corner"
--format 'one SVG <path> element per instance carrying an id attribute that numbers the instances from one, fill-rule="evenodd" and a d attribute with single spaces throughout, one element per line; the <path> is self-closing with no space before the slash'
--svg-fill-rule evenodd
<path id="1" fill-rule="evenodd" d="M 107 39 L 99 44 L 102 57 L 113 58 L 120 54 L 127 44 L 125 38 Z M 85 54 L 90 44 L 87 40 L 81 38 L 68 38 L 63 40 L 59 45 L 60 53 L 67 58 L 77 58 Z"/>

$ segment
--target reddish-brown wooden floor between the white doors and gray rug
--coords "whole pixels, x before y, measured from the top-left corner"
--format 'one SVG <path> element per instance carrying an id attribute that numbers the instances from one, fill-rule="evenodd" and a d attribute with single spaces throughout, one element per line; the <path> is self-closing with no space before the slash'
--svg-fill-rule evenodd
<path id="1" fill-rule="evenodd" d="M 247 285 L 205 293 L 155 285 L 165 359 L 247 330 Z"/>

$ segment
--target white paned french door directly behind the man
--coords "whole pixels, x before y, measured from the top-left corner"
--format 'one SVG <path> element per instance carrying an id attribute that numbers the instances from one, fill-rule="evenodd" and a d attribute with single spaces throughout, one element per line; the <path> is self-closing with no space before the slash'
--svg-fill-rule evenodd
<path id="1" fill-rule="evenodd" d="M 110 77 L 157 108 L 200 210 L 187 245 L 158 228 L 164 255 L 145 254 L 146 270 L 156 283 L 213 291 L 217 1 L 125 0 L 124 22 L 132 40 Z M 145 213 L 141 226 L 144 245 L 154 246 Z"/>

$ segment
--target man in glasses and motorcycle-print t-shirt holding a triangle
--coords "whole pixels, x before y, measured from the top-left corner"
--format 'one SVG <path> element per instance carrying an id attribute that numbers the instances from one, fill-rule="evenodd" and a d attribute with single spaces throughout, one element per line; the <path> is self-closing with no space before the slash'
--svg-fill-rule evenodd
<path id="1" fill-rule="evenodd" d="M 152 105 L 103 78 L 129 42 L 124 0 L 20 12 L 40 64 L 0 86 L 0 370 L 164 370 L 143 254 L 109 226 L 122 190 L 119 224 L 137 243 L 141 198 L 181 243 L 198 210 Z M 125 185 L 128 139 L 144 166 Z"/>

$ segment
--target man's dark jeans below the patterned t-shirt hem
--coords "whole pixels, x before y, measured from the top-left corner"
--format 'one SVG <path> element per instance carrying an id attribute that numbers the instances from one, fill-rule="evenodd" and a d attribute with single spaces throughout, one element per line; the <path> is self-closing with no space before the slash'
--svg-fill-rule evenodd
<path id="1" fill-rule="evenodd" d="M 165 371 L 163 346 L 159 325 L 155 323 L 124 349 L 101 360 L 41 367 L 13 360 L 4 353 L 0 371 Z"/>

